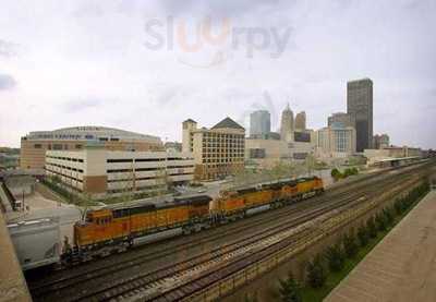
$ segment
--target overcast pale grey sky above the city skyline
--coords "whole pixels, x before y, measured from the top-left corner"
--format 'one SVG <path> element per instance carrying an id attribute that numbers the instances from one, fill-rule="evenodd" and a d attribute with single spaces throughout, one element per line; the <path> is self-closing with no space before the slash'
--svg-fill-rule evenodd
<path id="1" fill-rule="evenodd" d="M 187 118 L 211 126 L 229 116 L 247 126 L 255 109 L 268 109 L 276 130 L 288 101 L 318 129 L 347 110 L 347 81 L 371 77 L 374 133 L 436 148 L 436 1 L 0 0 L 0 145 L 73 125 L 180 141 Z"/>

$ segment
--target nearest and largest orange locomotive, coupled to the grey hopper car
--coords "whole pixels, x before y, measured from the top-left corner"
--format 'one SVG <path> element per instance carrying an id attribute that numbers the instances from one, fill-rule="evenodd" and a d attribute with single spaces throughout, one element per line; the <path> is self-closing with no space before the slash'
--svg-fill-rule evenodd
<path id="1" fill-rule="evenodd" d="M 172 202 L 146 202 L 130 207 L 112 207 L 89 212 L 85 221 L 74 225 L 73 253 L 94 256 L 121 252 L 133 239 L 165 230 L 182 228 L 184 232 L 198 230 L 208 224 L 209 202 L 206 195 L 175 197 Z"/>

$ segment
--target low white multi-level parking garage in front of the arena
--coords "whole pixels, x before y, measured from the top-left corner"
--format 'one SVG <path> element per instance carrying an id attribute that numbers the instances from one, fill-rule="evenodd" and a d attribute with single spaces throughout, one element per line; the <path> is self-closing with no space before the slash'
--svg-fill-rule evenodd
<path id="1" fill-rule="evenodd" d="M 191 155 L 108 150 L 99 143 L 81 150 L 47 150 L 46 174 L 95 197 L 137 194 L 193 180 Z"/>

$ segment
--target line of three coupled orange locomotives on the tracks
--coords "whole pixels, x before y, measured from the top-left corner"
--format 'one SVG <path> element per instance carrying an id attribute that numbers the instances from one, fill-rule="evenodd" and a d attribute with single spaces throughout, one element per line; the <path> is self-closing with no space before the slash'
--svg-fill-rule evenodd
<path id="1" fill-rule="evenodd" d="M 233 189 L 213 200 L 208 195 L 173 197 L 170 202 L 145 202 L 90 210 L 74 225 L 74 242 L 66 244 L 66 263 L 89 261 L 122 252 L 142 238 L 162 233 L 191 233 L 243 218 L 258 208 L 277 208 L 324 192 L 317 177 L 276 181 Z"/>

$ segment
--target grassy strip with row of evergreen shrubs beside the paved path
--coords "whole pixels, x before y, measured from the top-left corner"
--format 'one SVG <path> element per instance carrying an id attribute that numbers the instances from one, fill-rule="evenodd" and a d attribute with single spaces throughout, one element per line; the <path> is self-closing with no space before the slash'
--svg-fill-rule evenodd
<path id="1" fill-rule="evenodd" d="M 404 208 L 401 214 L 398 214 L 393 217 L 391 224 L 386 226 L 386 230 L 377 231 L 377 235 L 375 238 L 368 238 L 368 243 L 366 246 L 362 246 L 356 252 L 355 256 L 352 258 L 346 258 L 343 267 L 340 271 L 329 271 L 324 286 L 319 288 L 313 288 L 308 285 L 305 285 L 301 288 L 301 298 L 302 301 L 323 301 L 328 293 L 335 289 L 339 285 L 339 282 L 344 279 L 348 274 L 392 230 L 398 222 L 404 218 L 410 210 L 412 210 L 416 204 L 427 194 L 428 189 L 426 188 L 423 192 L 420 192 L 416 196 L 416 200 L 413 201 L 409 206 Z"/>

